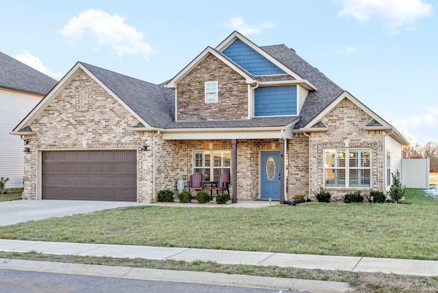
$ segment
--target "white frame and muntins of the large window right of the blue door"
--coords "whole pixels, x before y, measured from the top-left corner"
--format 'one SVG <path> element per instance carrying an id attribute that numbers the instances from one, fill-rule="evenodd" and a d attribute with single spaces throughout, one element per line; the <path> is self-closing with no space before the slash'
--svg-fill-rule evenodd
<path id="1" fill-rule="evenodd" d="M 345 151 L 346 155 L 346 162 L 345 167 L 326 167 L 326 151 Z M 348 157 L 350 154 L 350 151 L 370 151 L 370 166 L 369 167 L 350 167 L 348 162 Z M 323 162 L 323 182 L 324 182 L 324 188 L 327 189 L 339 189 L 339 188 L 351 188 L 351 189 L 371 189 L 372 186 L 372 149 L 368 148 L 339 148 L 339 149 L 323 149 L 323 156 L 324 156 L 324 162 Z M 345 170 L 345 186 L 326 186 L 326 170 Z M 370 170 L 370 186 L 351 186 L 350 187 L 350 170 Z"/>

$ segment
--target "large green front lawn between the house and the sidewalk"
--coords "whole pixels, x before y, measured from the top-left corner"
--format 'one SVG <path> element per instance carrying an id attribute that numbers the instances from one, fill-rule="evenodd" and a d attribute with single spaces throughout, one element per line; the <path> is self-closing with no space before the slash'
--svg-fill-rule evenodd
<path id="1" fill-rule="evenodd" d="M 0 238 L 438 260 L 438 201 L 261 209 L 126 207 L 0 227 Z"/>

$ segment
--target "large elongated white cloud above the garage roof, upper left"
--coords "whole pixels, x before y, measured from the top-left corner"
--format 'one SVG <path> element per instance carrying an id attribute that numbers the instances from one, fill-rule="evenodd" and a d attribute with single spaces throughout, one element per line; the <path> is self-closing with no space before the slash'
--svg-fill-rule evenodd
<path id="1" fill-rule="evenodd" d="M 144 42 L 142 32 L 125 23 L 125 18 L 110 15 L 103 10 L 86 10 L 73 16 L 60 33 L 72 42 L 88 38 L 112 48 L 118 56 L 143 55 L 147 60 L 154 53 L 151 45 Z"/>

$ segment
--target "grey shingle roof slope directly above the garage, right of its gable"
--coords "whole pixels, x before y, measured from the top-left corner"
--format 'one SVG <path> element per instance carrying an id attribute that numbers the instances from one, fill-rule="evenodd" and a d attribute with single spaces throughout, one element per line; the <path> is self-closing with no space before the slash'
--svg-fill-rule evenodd
<path id="1" fill-rule="evenodd" d="M 151 127 L 175 120 L 175 91 L 126 75 L 80 62 Z"/>

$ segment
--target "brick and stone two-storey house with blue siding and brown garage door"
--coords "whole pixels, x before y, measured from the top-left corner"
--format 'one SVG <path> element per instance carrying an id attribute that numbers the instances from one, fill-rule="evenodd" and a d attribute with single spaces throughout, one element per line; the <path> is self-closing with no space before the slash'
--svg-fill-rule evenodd
<path id="1" fill-rule="evenodd" d="M 151 202 L 198 171 L 232 201 L 385 191 L 407 140 L 285 45 L 233 32 L 166 84 L 78 62 L 14 131 L 26 199 Z"/>

